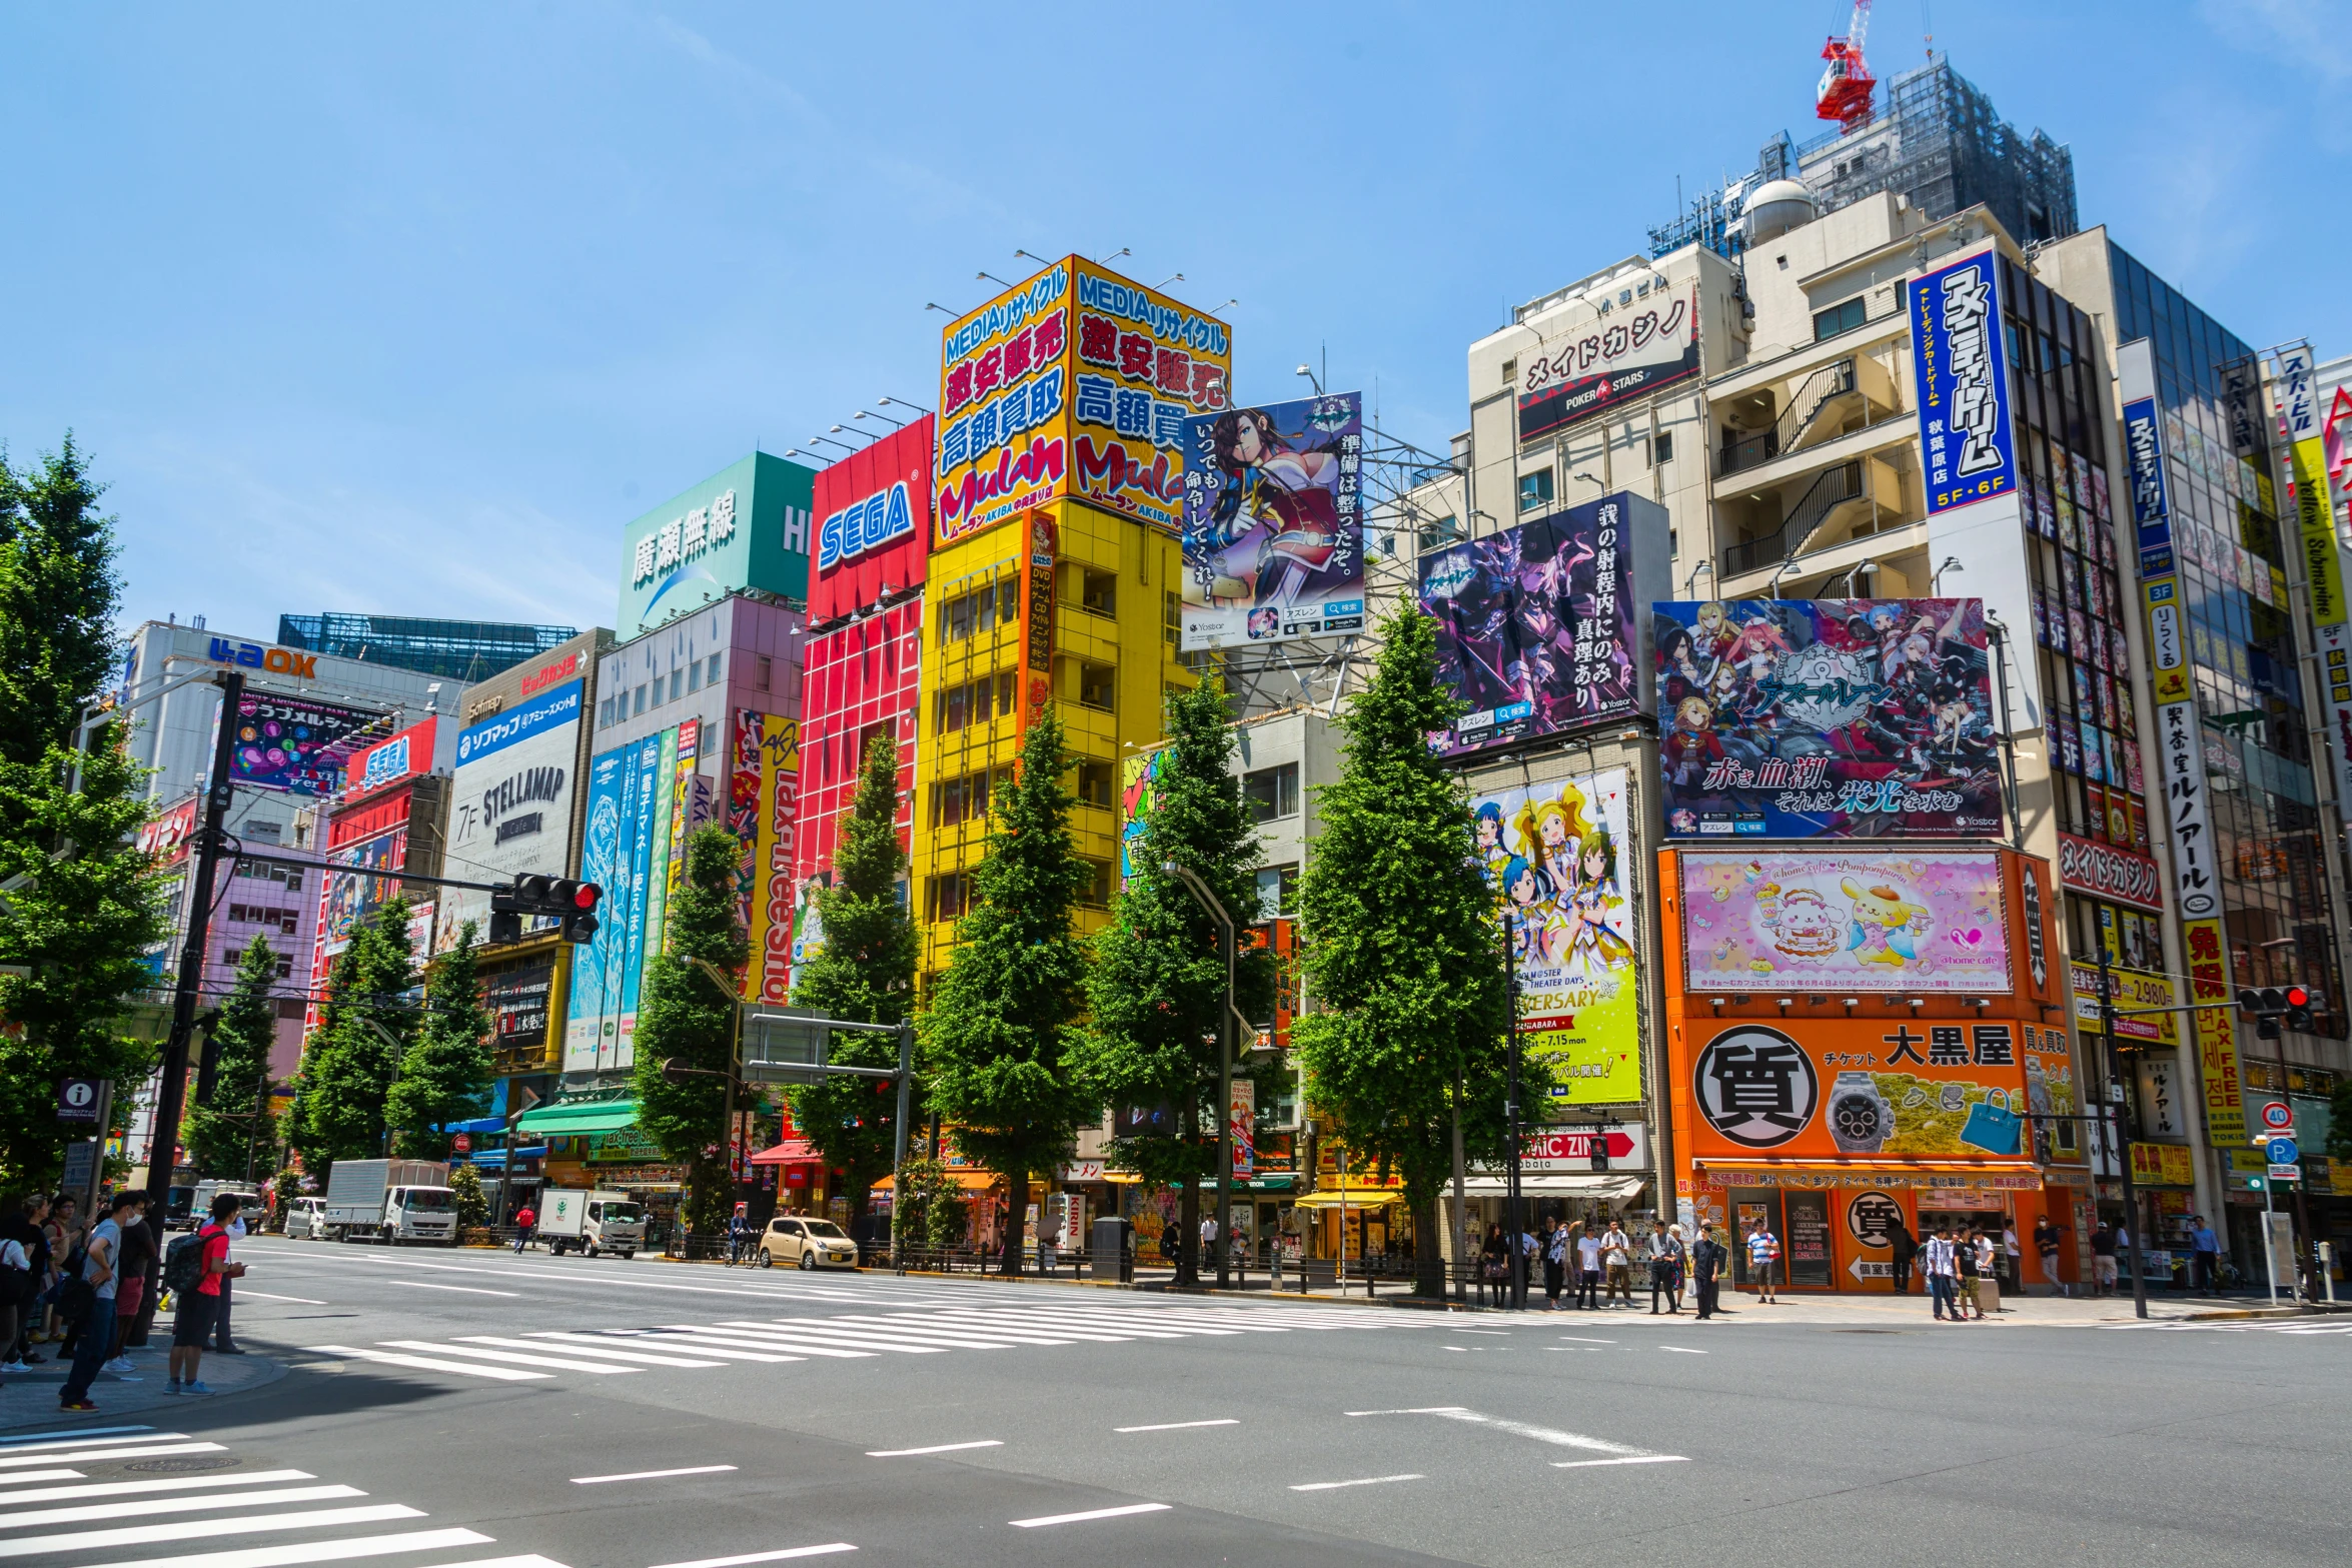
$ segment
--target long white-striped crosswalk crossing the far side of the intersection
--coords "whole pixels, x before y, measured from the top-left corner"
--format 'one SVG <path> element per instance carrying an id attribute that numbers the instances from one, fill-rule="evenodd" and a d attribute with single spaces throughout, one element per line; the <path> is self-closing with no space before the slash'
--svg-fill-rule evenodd
<path id="1" fill-rule="evenodd" d="M 903 1300 L 903 1298 L 901 1298 Z M 315 1356 L 353 1366 L 449 1373 L 482 1382 L 543 1382 L 560 1373 L 626 1378 L 656 1368 L 720 1371 L 795 1361 L 875 1361 L 1049 1345 L 1148 1345 L 1167 1340 L 1251 1340 L 1284 1333 L 1423 1328 L 1402 1312 L 1223 1305 L 1023 1302 L 927 1305 L 901 1312 L 828 1316 L 741 1316 L 708 1324 L 640 1328 L 536 1328 L 459 1333 L 440 1340 L 306 1345 Z"/>

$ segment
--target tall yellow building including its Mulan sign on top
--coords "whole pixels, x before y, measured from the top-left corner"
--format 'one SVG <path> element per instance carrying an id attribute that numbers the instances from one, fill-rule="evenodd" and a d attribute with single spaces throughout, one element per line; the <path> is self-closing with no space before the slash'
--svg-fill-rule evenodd
<path id="1" fill-rule="evenodd" d="M 1120 757 L 1164 738 L 1190 686 L 1181 607 L 1181 418 L 1225 407 L 1223 322 L 1068 256 L 950 324 L 915 769 L 924 987 L 988 839 L 990 785 L 1061 710 L 1094 865 L 1080 931 L 1108 919 Z"/>

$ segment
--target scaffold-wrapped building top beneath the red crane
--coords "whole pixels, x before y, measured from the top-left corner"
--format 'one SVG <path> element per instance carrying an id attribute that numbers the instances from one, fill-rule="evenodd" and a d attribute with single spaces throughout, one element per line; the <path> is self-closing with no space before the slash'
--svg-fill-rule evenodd
<path id="1" fill-rule="evenodd" d="M 1708 190 L 1672 223 L 1649 230 L 1651 256 L 1698 242 L 1738 256 L 1740 205 L 1776 179 L 1797 179 L 1820 212 L 1893 190 L 1929 221 L 1990 207 L 2023 244 L 2063 240 L 2074 219 L 2074 155 L 2034 129 L 2030 136 L 1992 110 L 1950 61 L 1936 59 L 1886 82 L 1886 108 L 1858 129 L 1835 129 L 1797 143 L 1780 132 L 1757 167 L 1722 190 Z"/>

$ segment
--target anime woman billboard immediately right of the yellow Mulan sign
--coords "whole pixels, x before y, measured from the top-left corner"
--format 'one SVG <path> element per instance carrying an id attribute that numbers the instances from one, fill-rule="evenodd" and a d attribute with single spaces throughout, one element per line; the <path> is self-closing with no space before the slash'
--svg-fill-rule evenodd
<path id="1" fill-rule="evenodd" d="M 1183 649 L 1364 625 L 1364 395 L 1183 421 Z"/>

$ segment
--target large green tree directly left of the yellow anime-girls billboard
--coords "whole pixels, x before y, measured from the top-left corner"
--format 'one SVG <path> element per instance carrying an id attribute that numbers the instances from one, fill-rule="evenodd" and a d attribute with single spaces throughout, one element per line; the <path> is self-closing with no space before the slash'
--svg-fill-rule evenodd
<path id="1" fill-rule="evenodd" d="M 1470 806 L 1428 743 L 1461 712 L 1437 686 L 1435 651 L 1432 623 L 1399 607 L 1343 719 L 1348 762 L 1319 792 L 1322 837 L 1298 889 L 1317 1011 L 1291 1025 L 1308 1095 L 1359 1168 L 1404 1178 L 1423 1295 L 1444 1293 L 1437 1194 L 1456 1117 L 1475 1161 L 1503 1159 L 1510 1143 L 1510 994 Z M 1522 1084 L 1543 1103 L 1538 1063 Z"/>

